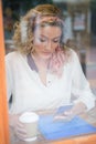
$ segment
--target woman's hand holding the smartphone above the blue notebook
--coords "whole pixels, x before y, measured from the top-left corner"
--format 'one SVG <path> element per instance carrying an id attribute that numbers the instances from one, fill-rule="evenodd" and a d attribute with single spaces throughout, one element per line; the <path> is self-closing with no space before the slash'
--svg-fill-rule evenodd
<path id="1" fill-rule="evenodd" d="M 75 115 L 82 114 L 87 110 L 86 105 L 82 102 L 75 104 L 72 109 L 64 111 L 54 117 L 54 121 L 71 121 Z"/>

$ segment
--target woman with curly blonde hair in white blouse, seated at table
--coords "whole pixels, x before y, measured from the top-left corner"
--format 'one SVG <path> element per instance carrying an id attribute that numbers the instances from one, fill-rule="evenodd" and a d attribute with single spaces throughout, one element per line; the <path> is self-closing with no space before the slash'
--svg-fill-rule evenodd
<path id="1" fill-rule="evenodd" d="M 76 100 L 63 119 L 95 105 L 76 53 L 64 45 L 63 28 L 62 13 L 52 4 L 30 10 L 15 27 L 18 51 L 9 53 L 6 63 L 10 126 L 19 138 L 26 136 L 19 122 L 22 112 L 71 104 L 72 94 Z"/>

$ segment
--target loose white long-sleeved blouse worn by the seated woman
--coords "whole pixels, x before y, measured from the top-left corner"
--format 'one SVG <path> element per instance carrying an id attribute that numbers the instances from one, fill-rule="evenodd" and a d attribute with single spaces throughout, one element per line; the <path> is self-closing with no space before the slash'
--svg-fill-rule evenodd
<path id="1" fill-rule="evenodd" d="M 28 59 L 19 52 L 6 55 L 8 101 L 12 95 L 10 113 L 54 109 L 84 102 L 88 110 L 95 105 L 89 84 L 82 71 L 77 54 L 71 50 L 72 59 L 64 64 L 62 78 L 49 73 L 44 85 L 39 73 L 31 70 Z"/>

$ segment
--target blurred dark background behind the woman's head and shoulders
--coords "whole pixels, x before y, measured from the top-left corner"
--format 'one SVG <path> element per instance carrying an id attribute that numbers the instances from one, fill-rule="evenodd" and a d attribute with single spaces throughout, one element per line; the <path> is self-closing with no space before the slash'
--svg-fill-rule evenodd
<path id="1" fill-rule="evenodd" d="M 54 3 L 64 14 L 64 40 L 75 49 L 85 76 L 96 94 L 96 0 L 2 0 L 6 54 L 13 45 L 13 24 L 31 8 Z"/>

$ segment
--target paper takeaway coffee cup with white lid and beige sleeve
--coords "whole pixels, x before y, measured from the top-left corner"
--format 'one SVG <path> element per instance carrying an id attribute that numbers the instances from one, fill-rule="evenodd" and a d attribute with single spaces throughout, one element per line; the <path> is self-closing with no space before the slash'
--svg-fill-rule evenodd
<path id="1" fill-rule="evenodd" d="M 25 112 L 19 117 L 26 130 L 26 138 L 24 141 L 34 141 L 38 137 L 39 115 L 34 112 Z"/>

